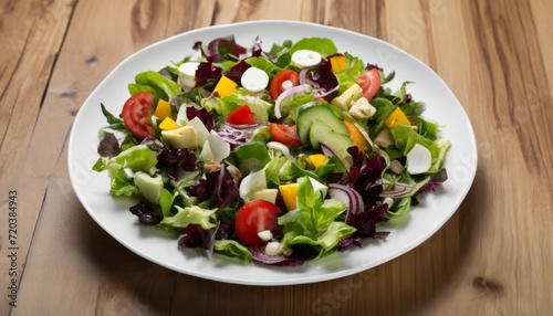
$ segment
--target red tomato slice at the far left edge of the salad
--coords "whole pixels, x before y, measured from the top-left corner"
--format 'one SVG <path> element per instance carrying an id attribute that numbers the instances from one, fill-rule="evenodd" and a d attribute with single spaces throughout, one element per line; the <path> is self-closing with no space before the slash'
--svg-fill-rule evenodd
<path id="1" fill-rule="evenodd" d="M 137 137 L 154 136 L 152 115 L 154 115 L 155 108 L 154 94 L 150 91 L 139 92 L 131 96 L 123 105 L 121 113 L 125 127 Z"/>

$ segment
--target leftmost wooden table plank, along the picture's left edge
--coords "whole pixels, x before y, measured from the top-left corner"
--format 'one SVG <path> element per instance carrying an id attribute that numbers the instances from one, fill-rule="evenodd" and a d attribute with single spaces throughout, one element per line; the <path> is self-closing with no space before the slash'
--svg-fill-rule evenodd
<path id="1" fill-rule="evenodd" d="M 12 252 L 17 253 L 18 259 L 17 271 L 13 271 L 17 274 L 2 273 L 0 275 L 2 302 L 4 302 L 8 294 L 11 295 L 12 292 L 3 285 L 10 284 L 11 286 L 12 280 L 15 283 L 21 281 L 29 244 L 44 197 L 44 179 L 42 178 L 44 173 L 29 172 L 25 158 L 30 150 L 29 143 L 40 113 L 42 96 L 54 67 L 56 53 L 62 44 L 73 7 L 71 2 L 65 3 L 65 1 L 3 1 L 1 8 L 1 204 L 8 206 L 9 191 L 17 192 L 18 197 L 17 240 L 10 240 L 8 230 L 0 231 L 0 240 L 6 241 L 1 245 L 0 265 L 10 266 L 11 260 L 8 254 Z M 23 21 L 19 23 L 19 20 Z M 21 28 L 13 25 L 21 25 Z M 60 141 L 63 141 L 63 138 Z M 43 159 L 31 161 L 35 167 L 44 164 L 41 166 L 46 168 L 49 162 L 51 161 Z M 4 218 L 2 222 L 4 220 L 8 221 Z M 9 241 L 10 244 L 8 244 Z M 12 241 L 15 243 L 11 243 Z M 0 314 L 6 315 L 10 307 L 8 303 L 2 304 Z"/>

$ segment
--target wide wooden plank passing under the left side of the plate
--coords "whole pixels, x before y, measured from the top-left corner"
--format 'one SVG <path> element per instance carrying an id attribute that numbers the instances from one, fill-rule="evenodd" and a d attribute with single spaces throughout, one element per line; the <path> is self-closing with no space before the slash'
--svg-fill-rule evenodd
<path id="1" fill-rule="evenodd" d="M 60 52 L 32 138 L 25 140 L 29 151 L 21 158 L 27 164 L 19 169 L 25 177 L 24 186 L 18 187 L 21 199 L 40 199 L 33 201 L 36 206 L 27 203 L 21 209 L 27 217 L 41 211 L 41 225 L 34 232 L 32 260 L 22 280 L 21 305 L 13 315 L 102 314 L 122 307 L 168 314 L 175 273 L 139 259 L 95 225 L 77 202 L 66 168 L 69 130 L 92 89 L 126 56 L 178 32 L 167 29 L 169 11 L 175 17 L 191 14 L 184 6 L 169 10 L 169 1 L 156 2 L 153 11 L 143 3 L 85 1 L 76 6 L 72 17 L 76 22 Z M 91 29 L 91 24 L 96 27 Z M 51 266 L 48 273 L 45 265 Z M 44 291 L 49 284 L 59 286 Z M 60 297 L 66 301 L 60 303 Z M 148 303 L 143 306 L 144 297 Z"/>

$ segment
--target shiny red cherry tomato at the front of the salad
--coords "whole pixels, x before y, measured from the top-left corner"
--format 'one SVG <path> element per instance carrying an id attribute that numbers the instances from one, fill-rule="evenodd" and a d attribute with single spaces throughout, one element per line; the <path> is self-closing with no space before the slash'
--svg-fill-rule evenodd
<path id="1" fill-rule="evenodd" d="M 276 215 L 280 208 L 265 200 L 253 200 L 246 203 L 237 213 L 234 230 L 238 238 L 249 246 L 267 244 L 258 233 L 276 228 Z"/>

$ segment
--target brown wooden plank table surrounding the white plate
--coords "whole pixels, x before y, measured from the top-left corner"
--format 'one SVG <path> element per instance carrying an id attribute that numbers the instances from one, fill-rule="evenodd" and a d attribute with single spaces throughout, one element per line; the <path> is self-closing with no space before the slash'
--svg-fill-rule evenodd
<path id="1" fill-rule="evenodd" d="M 552 315 L 552 1 L 0 3 L 0 315 Z M 419 247 L 340 280 L 232 285 L 135 255 L 83 209 L 67 175 L 69 133 L 107 73 L 170 35 L 260 19 L 386 40 L 458 96 L 478 140 L 476 180 Z"/>

